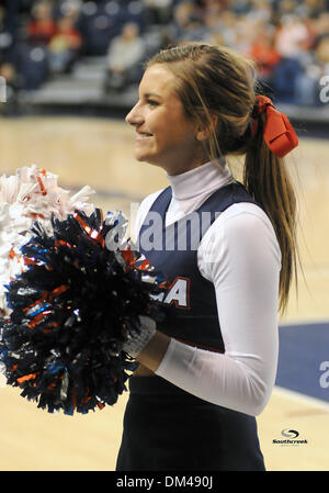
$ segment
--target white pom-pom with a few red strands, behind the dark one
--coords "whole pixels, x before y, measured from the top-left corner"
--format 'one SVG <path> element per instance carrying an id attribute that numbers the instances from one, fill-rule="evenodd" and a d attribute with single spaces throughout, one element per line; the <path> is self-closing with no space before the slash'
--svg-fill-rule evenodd
<path id="1" fill-rule="evenodd" d="M 57 176 L 35 165 L 16 170 L 15 176 L 0 177 L 0 313 L 8 316 L 5 284 L 21 273 L 25 266 L 20 248 L 31 237 L 30 229 L 38 221 L 52 229 L 52 216 L 64 220 L 79 209 L 88 214 L 94 205 L 88 204 L 90 187 L 70 195 L 57 184 Z"/>

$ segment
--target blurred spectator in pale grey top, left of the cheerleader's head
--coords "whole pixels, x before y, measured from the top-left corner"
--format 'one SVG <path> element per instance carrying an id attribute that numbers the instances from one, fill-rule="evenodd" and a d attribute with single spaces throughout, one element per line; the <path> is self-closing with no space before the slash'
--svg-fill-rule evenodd
<path id="1" fill-rule="evenodd" d="M 135 23 L 123 26 L 114 37 L 107 52 L 107 71 L 104 81 L 105 92 L 123 90 L 138 82 L 141 76 L 141 61 L 146 55 L 146 45 Z"/>

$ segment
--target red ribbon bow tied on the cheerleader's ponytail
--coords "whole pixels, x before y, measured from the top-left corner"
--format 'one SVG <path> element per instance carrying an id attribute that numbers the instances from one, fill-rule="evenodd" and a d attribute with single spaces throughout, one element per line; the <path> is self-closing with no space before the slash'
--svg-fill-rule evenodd
<path id="1" fill-rule="evenodd" d="M 266 111 L 264 141 L 275 156 L 284 157 L 298 145 L 296 132 L 286 115 L 275 110 L 270 98 L 257 96 L 256 99 L 259 102 L 257 114 Z"/>

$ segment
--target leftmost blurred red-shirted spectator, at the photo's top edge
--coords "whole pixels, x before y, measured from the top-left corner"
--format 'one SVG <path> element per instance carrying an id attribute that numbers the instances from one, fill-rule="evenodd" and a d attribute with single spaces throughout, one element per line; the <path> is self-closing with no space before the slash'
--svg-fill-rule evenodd
<path id="1" fill-rule="evenodd" d="M 55 34 L 53 4 L 48 0 L 42 0 L 32 9 L 32 19 L 27 23 L 27 41 L 33 45 L 47 45 Z"/>

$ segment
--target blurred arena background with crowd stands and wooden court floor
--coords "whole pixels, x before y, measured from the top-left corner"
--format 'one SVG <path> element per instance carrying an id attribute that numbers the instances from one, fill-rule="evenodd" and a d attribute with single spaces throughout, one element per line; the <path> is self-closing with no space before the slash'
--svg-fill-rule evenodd
<path id="1" fill-rule="evenodd" d="M 141 61 L 190 40 L 257 59 L 261 81 L 298 132 L 287 166 L 298 191 L 304 272 L 280 321 L 276 385 L 258 423 L 268 470 L 327 471 L 328 1 L 1 1 L 1 175 L 36 164 L 69 190 L 90 184 L 94 204 L 129 216 L 131 203 L 167 184 L 159 169 L 134 160 L 124 123 Z M 238 175 L 239 163 L 230 165 Z M 52 415 L 2 386 L 0 470 L 113 470 L 126 399 L 84 416 Z M 280 444 L 287 429 L 306 442 Z"/>

